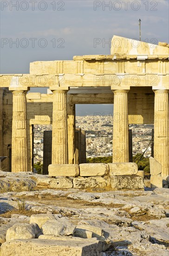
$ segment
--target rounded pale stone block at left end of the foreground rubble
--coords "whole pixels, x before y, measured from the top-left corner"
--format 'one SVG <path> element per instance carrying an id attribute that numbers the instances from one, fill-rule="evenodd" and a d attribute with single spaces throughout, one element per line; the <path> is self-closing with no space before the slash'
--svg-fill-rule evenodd
<path id="1" fill-rule="evenodd" d="M 6 241 L 38 238 L 40 235 L 42 235 L 42 232 L 37 224 L 16 223 L 7 229 Z"/>

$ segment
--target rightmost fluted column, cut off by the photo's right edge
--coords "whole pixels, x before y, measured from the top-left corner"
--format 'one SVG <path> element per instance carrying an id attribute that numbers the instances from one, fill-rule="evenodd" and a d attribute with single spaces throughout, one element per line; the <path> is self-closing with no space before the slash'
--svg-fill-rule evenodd
<path id="1" fill-rule="evenodd" d="M 162 165 L 162 176 L 169 175 L 169 90 L 154 90 L 154 158 Z"/>

